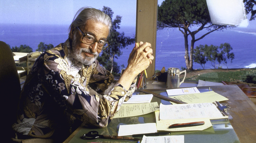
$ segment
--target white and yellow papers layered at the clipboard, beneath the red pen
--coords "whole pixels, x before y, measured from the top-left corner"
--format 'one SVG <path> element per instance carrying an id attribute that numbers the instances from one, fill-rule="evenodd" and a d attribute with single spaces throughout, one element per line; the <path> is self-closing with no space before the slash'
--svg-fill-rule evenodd
<path id="1" fill-rule="evenodd" d="M 214 103 L 160 104 L 155 111 L 158 131 L 202 131 L 212 126 L 210 119 L 227 119 Z M 204 121 L 203 125 L 168 128 L 172 124 Z"/>

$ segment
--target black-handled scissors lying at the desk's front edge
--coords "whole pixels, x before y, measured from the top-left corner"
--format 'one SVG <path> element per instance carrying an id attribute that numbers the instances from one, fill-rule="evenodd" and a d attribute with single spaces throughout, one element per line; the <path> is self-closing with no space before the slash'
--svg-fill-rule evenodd
<path id="1" fill-rule="evenodd" d="M 141 139 L 139 138 L 133 138 L 133 137 L 125 137 L 125 136 L 115 136 L 115 135 L 99 135 L 97 131 L 90 131 L 87 134 L 84 134 L 81 136 L 82 139 L 86 140 L 92 140 L 96 138 L 106 138 L 106 139 L 120 139 L 120 140 L 134 140 L 139 141 Z"/>

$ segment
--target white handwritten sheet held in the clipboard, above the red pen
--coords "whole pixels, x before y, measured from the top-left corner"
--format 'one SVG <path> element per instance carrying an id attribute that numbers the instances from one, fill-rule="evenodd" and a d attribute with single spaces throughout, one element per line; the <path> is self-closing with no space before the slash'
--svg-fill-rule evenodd
<path id="1" fill-rule="evenodd" d="M 160 120 L 167 119 L 226 119 L 214 103 L 163 105 L 160 103 Z"/>

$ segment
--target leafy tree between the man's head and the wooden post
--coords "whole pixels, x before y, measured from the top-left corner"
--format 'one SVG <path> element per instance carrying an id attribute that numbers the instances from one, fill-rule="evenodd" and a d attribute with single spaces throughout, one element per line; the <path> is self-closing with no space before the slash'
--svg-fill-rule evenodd
<path id="1" fill-rule="evenodd" d="M 114 61 L 114 59 L 118 59 L 118 56 L 121 56 L 123 53 L 121 49 L 125 48 L 127 45 L 131 45 L 135 42 L 135 38 L 124 36 L 124 32 L 120 33 L 117 29 L 120 29 L 120 23 L 122 17 L 117 15 L 113 20 L 113 14 L 111 8 L 103 6 L 102 11 L 106 13 L 112 19 L 112 27 L 110 36 L 108 37 L 108 41 L 110 46 L 102 51 L 101 56 L 98 56 L 97 60 L 99 63 L 109 70 L 111 73 L 117 74 L 119 72 L 119 66 Z"/>

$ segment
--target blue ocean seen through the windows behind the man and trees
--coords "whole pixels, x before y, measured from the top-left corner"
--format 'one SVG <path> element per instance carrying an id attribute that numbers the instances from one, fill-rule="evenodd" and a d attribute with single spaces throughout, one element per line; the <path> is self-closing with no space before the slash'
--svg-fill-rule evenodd
<path id="1" fill-rule="evenodd" d="M 68 28 L 69 25 L 0 24 L 0 40 L 9 44 L 10 47 L 19 47 L 26 44 L 34 52 L 40 42 L 56 46 L 67 40 Z M 135 26 L 121 26 L 119 31 L 124 32 L 125 36 L 134 36 Z M 196 34 L 196 38 L 205 32 L 199 32 Z M 234 53 L 235 58 L 232 63 L 227 60 L 227 64 L 222 63 L 220 66 L 224 69 L 254 68 L 256 67 L 255 39 L 256 29 L 228 28 L 208 34 L 203 39 L 196 41 L 195 47 L 200 44 L 220 46 L 221 43 L 229 43 L 233 48 L 231 52 Z M 127 66 L 127 60 L 133 47 L 134 45 L 129 45 L 122 49 L 123 55 L 118 57 L 118 60 L 115 59 L 119 66 L 122 64 L 125 67 Z M 178 29 L 172 28 L 157 31 L 156 70 L 161 70 L 162 67 L 165 67 L 165 69 L 168 67 L 185 68 L 184 55 L 184 38 Z M 211 62 L 208 61 L 204 69 L 213 68 Z M 203 69 L 203 67 L 194 62 L 193 69 Z"/>

